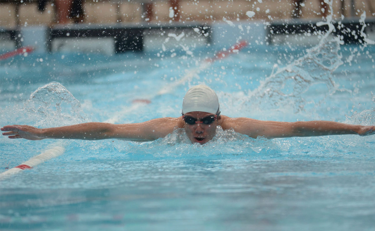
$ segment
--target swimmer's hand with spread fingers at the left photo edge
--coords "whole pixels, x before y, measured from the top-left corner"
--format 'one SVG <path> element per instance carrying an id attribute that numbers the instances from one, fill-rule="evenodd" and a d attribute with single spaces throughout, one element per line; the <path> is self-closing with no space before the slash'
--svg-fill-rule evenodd
<path id="1" fill-rule="evenodd" d="M 3 136 L 8 136 L 9 139 L 23 138 L 27 140 L 42 140 L 41 129 L 28 125 L 6 125 L 0 128 L 1 131 L 6 131 Z"/>

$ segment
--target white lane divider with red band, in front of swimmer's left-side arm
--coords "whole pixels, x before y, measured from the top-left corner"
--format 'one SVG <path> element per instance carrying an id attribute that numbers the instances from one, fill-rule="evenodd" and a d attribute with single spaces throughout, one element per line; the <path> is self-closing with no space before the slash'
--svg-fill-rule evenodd
<path id="1" fill-rule="evenodd" d="M 31 159 L 29 159 L 28 161 L 23 162 L 22 164 L 20 164 L 18 166 L 14 167 L 14 168 L 10 168 L 9 170 L 6 170 L 3 173 L 0 173 L 0 180 L 4 180 L 4 179 L 6 179 L 6 178 L 8 178 L 8 177 L 10 177 L 10 176 L 12 176 L 16 173 L 19 173 L 22 170 L 33 168 L 36 165 L 41 164 L 48 159 L 55 158 L 55 157 L 63 154 L 64 152 L 65 152 L 65 148 L 60 147 L 60 146 L 56 146 L 56 147 L 53 147 L 51 149 L 48 149 L 47 151 L 43 152 L 42 154 L 34 156 Z"/>

